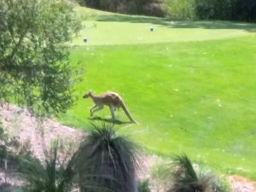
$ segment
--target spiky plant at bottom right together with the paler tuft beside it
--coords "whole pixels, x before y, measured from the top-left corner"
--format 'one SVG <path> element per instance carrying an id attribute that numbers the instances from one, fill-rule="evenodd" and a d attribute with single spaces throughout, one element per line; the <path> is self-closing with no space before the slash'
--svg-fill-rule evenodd
<path id="1" fill-rule="evenodd" d="M 174 158 L 173 184 L 168 192 L 229 192 L 230 186 L 202 166 L 193 166 L 186 154 Z"/>

